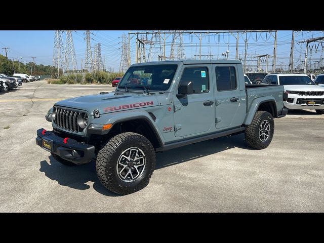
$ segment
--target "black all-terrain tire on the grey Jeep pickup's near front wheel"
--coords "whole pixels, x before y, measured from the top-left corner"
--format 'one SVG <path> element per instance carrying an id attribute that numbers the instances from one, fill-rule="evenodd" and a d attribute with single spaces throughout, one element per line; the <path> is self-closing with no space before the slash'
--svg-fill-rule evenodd
<path id="1" fill-rule="evenodd" d="M 127 182 L 118 175 L 117 163 L 124 151 L 134 147 L 143 151 L 145 167 L 142 169 L 141 175 L 135 176 L 135 180 Z M 131 132 L 121 133 L 111 138 L 100 149 L 96 160 L 96 171 L 100 182 L 108 190 L 120 195 L 130 194 L 147 186 L 154 168 L 155 151 L 152 144 L 144 136 Z M 129 169 L 126 168 L 126 170 Z"/>

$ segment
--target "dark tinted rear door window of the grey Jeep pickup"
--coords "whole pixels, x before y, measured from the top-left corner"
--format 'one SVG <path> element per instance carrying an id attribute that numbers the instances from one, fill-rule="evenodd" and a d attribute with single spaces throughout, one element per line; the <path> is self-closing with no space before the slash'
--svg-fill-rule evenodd
<path id="1" fill-rule="evenodd" d="M 236 90 L 235 67 L 216 67 L 216 85 L 218 91 Z"/>

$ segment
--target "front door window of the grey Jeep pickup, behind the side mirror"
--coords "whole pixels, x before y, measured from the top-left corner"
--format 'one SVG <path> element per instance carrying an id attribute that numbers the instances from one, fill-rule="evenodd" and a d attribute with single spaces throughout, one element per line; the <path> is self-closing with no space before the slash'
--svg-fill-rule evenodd
<path id="1" fill-rule="evenodd" d="M 194 94 L 209 92 L 209 76 L 207 67 L 186 67 L 183 70 L 181 82 L 187 81 L 192 82 Z"/>

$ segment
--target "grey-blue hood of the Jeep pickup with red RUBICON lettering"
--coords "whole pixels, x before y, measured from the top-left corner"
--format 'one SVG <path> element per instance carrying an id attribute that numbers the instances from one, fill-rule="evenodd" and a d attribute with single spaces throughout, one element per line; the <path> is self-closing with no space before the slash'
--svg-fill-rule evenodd
<path id="1" fill-rule="evenodd" d="M 143 93 L 102 93 L 86 95 L 56 102 L 55 105 L 74 109 L 86 110 L 93 115 L 94 110 L 100 114 L 112 113 L 123 110 L 138 109 L 157 106 L 155 94 Z"/>

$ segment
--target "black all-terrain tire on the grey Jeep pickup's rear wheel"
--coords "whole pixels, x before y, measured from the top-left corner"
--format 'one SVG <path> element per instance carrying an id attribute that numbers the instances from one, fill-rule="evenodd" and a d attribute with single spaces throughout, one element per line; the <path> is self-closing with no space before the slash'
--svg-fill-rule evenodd
<path id="1" fill-rule="evenodd" d="M 270 131 L 265 141 L 262 141 L 259 137 L 260 126 L 263 124 L 263 121 L 268 121 L 270 125 Z M 251 148 L 264 149 L 271 143 L 273 133 L 274 121 L 272 115 L 267 111 L 257 111 L 251 125 L 249 125 L 245 130 L 245 138 Z"/>

